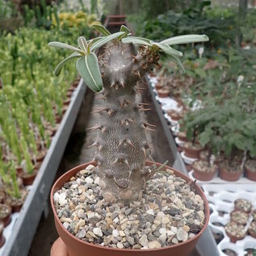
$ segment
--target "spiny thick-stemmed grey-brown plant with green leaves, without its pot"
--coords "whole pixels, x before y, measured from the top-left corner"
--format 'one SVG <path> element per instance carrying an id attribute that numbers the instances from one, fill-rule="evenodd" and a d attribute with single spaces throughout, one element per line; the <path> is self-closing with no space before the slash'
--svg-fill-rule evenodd
<path id="1" fill-rule="evenodd" d="M 91 128 L 98 130 L 92 146 L 97 147 L 94 161 L 98 164 L 99 186 L 109 203 L 134 201 L 141 198 L 146 181 L 157 170 L 146 166 L 151 150 L 145 132 L 153 130 L 154 125 L 141 120 L 141 111 L 147 108 L 145 103 L 136 103 L 136 85 L 162 55 L 182 66 L 179 57 L 183 53 L 170 45 L 207 41 L 208 36 L 178 36 L 157 43 L 131 36 L 125 26 L 114 34 L 101 25 L 94 28 L 103 36 L 89 41 L 79 37 L 78 48 L 49 43 L 74 51 L 57 65 L 55 74 L 61 73 L 66 62 L 78 58 L 76 67 L 86 85 L 103 94 L 105 106 L 95 111 L 101 115 L 101 123 Z M 136 55 L 130 44 L 139 45 Z"/>

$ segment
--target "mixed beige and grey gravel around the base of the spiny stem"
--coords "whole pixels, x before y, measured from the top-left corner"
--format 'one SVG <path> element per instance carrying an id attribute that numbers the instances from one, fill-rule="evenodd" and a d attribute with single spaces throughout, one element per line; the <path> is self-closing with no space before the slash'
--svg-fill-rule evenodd
<path id="1" fill-rule="evenodd" d="M 61 223 L 95 245 L 154 249 L 195 237 L 204 227 L 204 201 L 173 170 L 154 174 L 140 201 L 108 204 L 94 166 L 70 178 L 53 200 Z"/>

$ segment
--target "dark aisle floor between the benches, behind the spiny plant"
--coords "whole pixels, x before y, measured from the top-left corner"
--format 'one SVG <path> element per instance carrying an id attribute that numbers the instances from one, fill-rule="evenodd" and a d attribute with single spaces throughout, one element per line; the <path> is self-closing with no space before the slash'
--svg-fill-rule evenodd
<path id="1" fill-rule="evenodd" d="M 151 124 L 157 125 L 156 132 L 148 133 L 149 145 L 153 147 L 153 159 L 156 162 L 169 161 L 172 166 L 174 158 L 170 153 L 170 149 L 166 145 L 166 138 L 162 131 L 160 120 L 158 120 L 157 113 L 153 107 L 149 92 L 145 91 L 142 102 L 150 103 L 151 111 L 143 116 Z M 61 164 L 57 173 L 60 177 L 65 171 L 70 170 L 74 166 L 78 166 L 84 162 L 90 162 L 94 157 L 94 148 L 87 148 L 95 139 L 95 132 L 86 132 L 85 128 L 90 128 L 99 121 L 99 115 L 90 114 L 92 107 L 99 107 L 103 104 L 102 100 L 93 97 L 93 93 L 87 90 L 82 107 L 78 113 L 78 118 L 74 124 L 72 134 L 69 138 L 69 143 L 65 149 Z M 40 224 L 36 230 L 36 235 L 31 244 L 31 249 L 28 256 L 46 256 L 50 254 L 53 242 L 57 239 L 58 234 L 55 229 L 52 209 L 48 202 L 48 209 L 46 209 L 44 216 L 41 217 Z M 38 250 L 40 248 L 40 250 Z M 199 255 L 194 250 L 191 256 Z"/>

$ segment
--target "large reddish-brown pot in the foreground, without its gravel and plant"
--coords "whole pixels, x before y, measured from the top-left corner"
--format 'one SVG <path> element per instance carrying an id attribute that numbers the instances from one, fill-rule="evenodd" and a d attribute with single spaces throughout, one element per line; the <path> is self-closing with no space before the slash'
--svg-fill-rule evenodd
<path id="1" fill-rule="evenodd" d="M 161 249 L 150 249 L 150 250 L 128 250 L 128 249 L 117 249 L 117 248 L 111 248 L 107 246 L 96 246 L 93 243 L 89 243 L 86 241 L 82 241 L 78 239 L 77 237 L 74 237 L 73 234 L 69 233 L 64 226 L 61 224 L 61 220 L 59 220 L 57 216 L 56 209 L 53 204 L 53 195 L 55 191 L 58 191 L 61 189 L 61 187 L 64 185 L 64 183 L 68 182 L 71 177 L 73 177 L 79 170 L 83 170 L 86 168 L 86 166 L 89 166 L 90 164 L 95 165 L 94 162 L 88 162 L 86 164 L 83 164 L 82 166 L 77 166 L 73 168 L 72 170 L 69 170 L 65 174 L 61 176 L 57 180 L 56 183 L 54 183 L 51 191 L 51 204 L 52 204 L 52 211 L 54 214 L 54 220 L 55 225 L 57 228 L 57 232 L 59 233 L 62 241 L 65 242 L 65 245 L 67 246 L 67 249 L 69 251 L 69 256 L 86 256 L 86 255 L 94 255 L 94 256 L 120 256 L 120 255 L 149 255 L 149 256 L 171 256 L 171 255 L 183 255 L 186 256 L 193 250 L 195 247 L 199 237 L 204 233 L 204 230 L 206 229 L 208 225 L 209 220 L 209 208 L 207 199 L 204 195 L 204 192 L 195 184 L 195 193 L 199 194 L 204 199 L 204 211 L 205 211 L 205 225 L 204 228 L 195 235 L 195 237 L 180 243 L 178 245 L 174 246 L 166 246 Z M 152 164 L 152 162 L 147 162 L 148 165 Z M 157 166 L 161 166 L 157 163 Z M 169 169 L 172 169 L 168 167 Z M 174 169 L 172 169 L 174 170 Z M 187 182 L 192 182 L 191 178 L 188 178 L 185 174 L 182 174 L 178 172 L 177 170 L 174 170 L 174 174 L 183 178 Z"/>

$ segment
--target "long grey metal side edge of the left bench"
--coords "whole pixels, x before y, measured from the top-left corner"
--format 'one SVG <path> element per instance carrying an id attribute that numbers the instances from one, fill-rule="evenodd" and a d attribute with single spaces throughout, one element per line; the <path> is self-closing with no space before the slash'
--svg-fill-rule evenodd
<path id="1" fill-rule="evenodd" d="M 36 179 L 33 185 L 29 187 L 30 192 L 23 204 L 23 208 L 19 213 L 11 216 L 10 225 L 4 229 L 6 243 L 0 249 L 1 256 L 27 256 L 42 212 L 47 208 L 49 191 L 85 92 L 86 85 L 81 79 L 78 87 L 73 91 L 71 102 L 61 120 L 60 127 L 55 136 L 52 137 L 52 143 L 44 157 L 44 162 L 36 175 Z"/>

